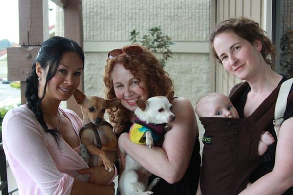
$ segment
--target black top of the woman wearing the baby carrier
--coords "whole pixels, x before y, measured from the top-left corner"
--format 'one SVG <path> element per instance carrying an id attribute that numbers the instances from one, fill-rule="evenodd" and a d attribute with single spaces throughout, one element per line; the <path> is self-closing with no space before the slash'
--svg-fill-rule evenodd
<path id="1" fill-rule="evenodd" d="M 287 79 L 288 78 L 283 77 L 279 84 L 281 84 L 282 82 L 284 82 Z M 241 94 L 241 96 L 236 101 L 233 102 L 233 105 L 237 109 L 240 118 L 245 118 L 244 117 L 244 106 L 246 103 L 247 94 L 250 90 L 251 90 L 250 86 L 247 85 L 246 88 L 244 89 L 243 93 Z M 290 92 L 293 92 L 293 85 L 291 87 Z M 290 117 L 293 117 L 293 102 L 289 103 L 289 105 L 287 105 L 287 107 L 286 107 L 286 111 L 284 114 L 284 121 Z M 268 125 L 266 130 L 272 134 L 272 136 L 275 139 L 275 142 L 268 147 L 268 150 L 262 156 L 262 163 L 251 174 L 251 177 L 250 177 L 251 182 L 255 182 L 260 177 L 271 172 L 274 167 L 276 145 L 277 145 L 277 136 L 276 136 L 276 133 L 274 130 L 273 121 L 270 123 L 270 125 Z M 285 194 L 286 195 L 293 195 L 293 188 L 291 187 L 288 191 L 286 191 Z"/>

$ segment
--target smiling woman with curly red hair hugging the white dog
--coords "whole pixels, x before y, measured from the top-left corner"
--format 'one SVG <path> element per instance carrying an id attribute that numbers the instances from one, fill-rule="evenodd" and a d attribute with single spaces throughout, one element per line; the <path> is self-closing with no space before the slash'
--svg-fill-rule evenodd
<path id="1" fill-rule="evenodd" d="M 195 194 L 200 166 L 198 127 L 188 99 L 172 100 L 176 119 L 172 129 L 164 135 L 162 148 L 150 150 L 145 145 L 134 144 L 127 133 L 135 119 L 133 112 L 137 108 L 137 99 L 166 95 L 174 88 L 158 59 L 138 45 L 113 50 L 108 54 L 104 83 L 107 98 L 121 100 L 119 106 L 109 110 L 109 118 L 115 131 L 121 133 L 118 145 L 122 169 L 127 153 L 153 174 L 150 181 L 161 177 L 152 189 L 154 194 Z"/>

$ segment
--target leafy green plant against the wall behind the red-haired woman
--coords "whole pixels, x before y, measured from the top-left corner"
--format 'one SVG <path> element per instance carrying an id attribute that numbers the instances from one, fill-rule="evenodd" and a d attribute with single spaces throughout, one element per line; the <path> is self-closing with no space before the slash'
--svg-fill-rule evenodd
<path id="1" fill-rule="evenodd" d="M 141 43 L 151 52 L 160 53 L 161 58 L 159 58 L 159 61 L 162 66 L 165 66 L 168 58 L 172 58 L 170 45 L 174 43 L 169 36 L 163 34 L 160 26 L 148 29 L 148 34 L 144 35 L 142 38 L 139 38 L 139 32 L 134 29 L 130 32 L 130 37 L 132 43 Z"/>

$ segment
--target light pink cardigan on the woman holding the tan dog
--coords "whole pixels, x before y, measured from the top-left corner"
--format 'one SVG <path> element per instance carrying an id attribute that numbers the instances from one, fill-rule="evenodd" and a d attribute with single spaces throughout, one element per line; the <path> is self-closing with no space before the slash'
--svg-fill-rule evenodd
<path id="1" fill-rule="evenodd" d="M 70 110 L 62 110 L 78 135 L 81 119 Z M 21 105 L 11 109 L 2 124 L 3 148 L 20 195 L 69 195 L 74 177 L 87 181 L 89 175 L 77 170 L 88 168 L 61 137 L 58 148 L 54 137 L 45 133 L 35 114 Z"/>

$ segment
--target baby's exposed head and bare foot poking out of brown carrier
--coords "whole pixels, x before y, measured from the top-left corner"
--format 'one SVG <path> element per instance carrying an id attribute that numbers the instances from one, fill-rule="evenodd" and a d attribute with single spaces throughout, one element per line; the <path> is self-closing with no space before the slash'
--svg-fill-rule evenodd
<path id="1" fill-rule="evenodd" d="M 222 117 L 239 118 L 238 112 L 230 99 L 224 94 L 211 93 L 200 98 L 195 107 L 198 117 Z M 268 131 L 260 136 L 258 144 L 258 154 L 262 156 L 268 146 L 274 142 L 274 137 Z"/>

